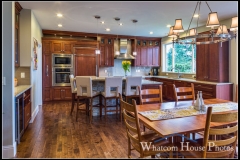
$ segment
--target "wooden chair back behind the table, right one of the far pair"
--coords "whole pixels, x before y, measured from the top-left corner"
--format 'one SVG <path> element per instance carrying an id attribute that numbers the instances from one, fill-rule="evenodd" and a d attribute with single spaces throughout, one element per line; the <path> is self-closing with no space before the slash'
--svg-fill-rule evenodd
<path id="1" fill-rule="evenodd" d="M 193 83 L 191 83 L 191 87 L 176 87 L 173 84 L 173 92 L 176 102 L 179 100 L 195 100 Z"/>

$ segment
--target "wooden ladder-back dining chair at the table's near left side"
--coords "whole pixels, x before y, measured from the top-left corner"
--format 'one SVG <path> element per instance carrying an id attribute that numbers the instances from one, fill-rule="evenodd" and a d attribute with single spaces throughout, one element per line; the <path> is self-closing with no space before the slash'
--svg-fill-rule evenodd
<path id="1" fill-rule="evenodd" d="M 130 104 L 123 101 L 121 94 L 119 94 L 119 97 L 127 131 L 128 157 L 131 157 L 132 150 L 136 150 L 140 153 L 140 158 L 147 156 L 155 157 L 156 154 L 164 152 L 167 152 L 169 158 L 171 158 L 172 146 L 167 139 L 160 137 L 154 131 L 143 132 L 140 130 L 136 101 L 132 99 L 132 104 Z M 146 149 L 145 145 L 150 145 L 149 149 Z M 159 148 L 161 146 L 166 147 L 166 150 L 154 149 L 154 147 Z"/>

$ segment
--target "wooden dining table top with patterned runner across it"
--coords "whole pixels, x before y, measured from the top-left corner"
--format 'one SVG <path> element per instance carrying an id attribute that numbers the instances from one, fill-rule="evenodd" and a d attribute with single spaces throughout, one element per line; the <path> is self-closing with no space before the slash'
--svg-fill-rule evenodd
<path id="1" fill-rule="evenodd" d="M 231 102 L 223 99 L 204 99 L 204 104 L 211 106 L 217 104 L 228 104 L 232 103 L 237 106 L 237 103 Z M 206 114 L 198 114 L 194 116 L 183 116 L 179 118 L 168 118 L 168 119 L 160 119 L 160 120 L 150 120 L 146 116 L 143 116 L 141 112 L 144 111 L 154 111 L 154 110 L 164 110 L 164 109 L 174 109 L 174 108 L 184 108 L 193 106 L 193 100 L 187 101 L 178 101 L 178 102 L 163 102 L 163 103 L 155 103 L 155 104 L 142 104 L 137 105 L 138 117 L 140 122 L 146 126 L 147 128 L 155 131 L 162 137 L 171 137 L 177 134 L 190 134 L 204 131 L 205 122 L 206 122 Z M 229 110 L 224 112 L 238 112 L 237 109 Z M 229 123 L 217 123 L 212 122 L 210 127 L 220 127 L 224 125 L 231 125 L 237 122 L 229 122 Z"/>

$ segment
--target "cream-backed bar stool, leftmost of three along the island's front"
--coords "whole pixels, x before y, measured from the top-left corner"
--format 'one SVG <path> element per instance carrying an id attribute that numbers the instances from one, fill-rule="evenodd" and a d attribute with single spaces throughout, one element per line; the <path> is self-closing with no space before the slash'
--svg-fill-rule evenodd
<path id="1" fill-rule="evenodd" d="M 90 112 L 90 123 L 92 122 L 92 107 L 93 107 L 93 98 L 99 97 L 100 92 L 93 91 L 92 89 L 92 78 L 84 76 L 76 76 L 76 86 L 77 86 L 77 113 L 76 121 L 78 117 L 78 111 Z M 87 105 L 79 104 L 81 97 L 88 99 Z M 100 108 L 101 110 L 101 108 Z"/>

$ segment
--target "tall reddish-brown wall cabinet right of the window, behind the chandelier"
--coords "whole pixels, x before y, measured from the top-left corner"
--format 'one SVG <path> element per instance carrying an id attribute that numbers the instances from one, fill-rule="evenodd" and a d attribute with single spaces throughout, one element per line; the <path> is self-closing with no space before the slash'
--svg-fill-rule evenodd
<path id="1" fill-rule="evenodd" d="M 205 41 L 205 38 L 198 41 Z M 229 42 L 197 45 L 196 79 L 229 82 Z"/>

